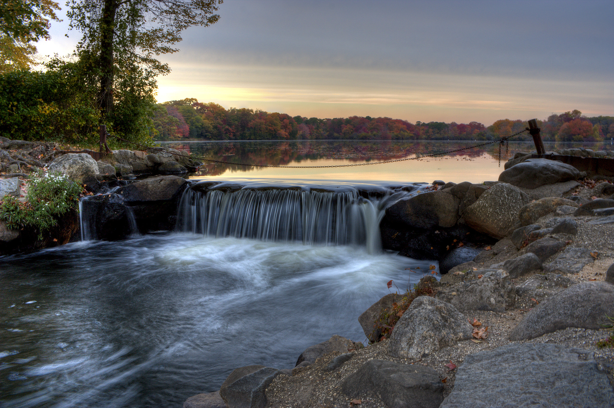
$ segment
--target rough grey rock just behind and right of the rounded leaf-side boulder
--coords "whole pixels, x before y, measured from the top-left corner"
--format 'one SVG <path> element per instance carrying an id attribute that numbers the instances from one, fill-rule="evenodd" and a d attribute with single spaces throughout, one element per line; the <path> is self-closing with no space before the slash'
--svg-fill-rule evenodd
<path id="1" fill-rule="evenodd" d="M 437 299 L 444 300 L 461 311 L 503 312 L 515 304 L 515 287 L 510 281 L 509 273 L 505 270 L 473 273 L 483 273 L 483 275 L 478 279 L 465 280 L 449 288 L 439 289 Z"/>

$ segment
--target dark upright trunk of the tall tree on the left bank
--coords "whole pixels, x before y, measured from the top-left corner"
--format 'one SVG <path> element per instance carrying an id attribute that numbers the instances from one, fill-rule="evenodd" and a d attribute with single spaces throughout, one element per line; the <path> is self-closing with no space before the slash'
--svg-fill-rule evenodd
<path id="1" fill-rule="evenodd" d="M 103 124 L 113 109 L 113 35 L 115 28 L 115 12 L 119 6 L 117 0 L 105 0 L 100 25 L 100 90 L 98 91 L 98 106 L 102 114 Z"/>

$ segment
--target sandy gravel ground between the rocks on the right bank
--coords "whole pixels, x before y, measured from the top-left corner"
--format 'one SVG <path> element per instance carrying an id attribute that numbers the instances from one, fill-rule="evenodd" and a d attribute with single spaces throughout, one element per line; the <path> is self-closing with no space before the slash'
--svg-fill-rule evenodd
<path id="1" fill-rule="evenodd" d="M 592 190 L 586 186 L 579 188 L 577 195 L 590 198 Z M 538 223 L 547 221 L 552 218 L 548 215 L 540 219 Z M 588 224 L 588 221 L 597 219 L 596 217 L 583 216 L 575 218 L 578 223 L 578 234 L 569 236 L 572 240 L 570 246 L 587 248 L 591 251 L 597 251 L 597 259 L 584 267 L 580 273 L 567 275 L 574 283 L 589 280 L 604 280 L 605 271 L 614 262 L 614 224 L 594 225 Z M 505 259 L 515 256 L 518 251 L 511 245 L 510 241 L 502 240 L 499 244 L 493 246 L 492 254 L 489 254 L 484 259 L 484 264 L 490 265 L 497 262 L 502 262 Z M 548 262 L 548 261 L 546 261 Z M 516 286 L 523 283 L 531 276 L 517 278 L 514 281 Z M 362 364 L 370 359 L 385 359 L 403 364 L 421 364 L 435 369 L 440 374 L 440 379 L 445 382 L 445 393 L 447 396 L 454 387 L 454 376 L 456 370 L 449 370 L 445 364 L 454 363 L 460 366 L 465 356 L 476 353 L 481 350 L 492 350 L 502 345 L 510 343 L 558 343 L 568 347 L 578 347 L 585 350 L 595 352 L 597 361 L 602 363 L 608 371 L 610 382 L 614 385 L 614 349 L 597 347 L 597 341 L 605 339 L 610 335 L 607 329 L 588 330 L 580 328 L 567 328 L 553 333 L 542 335 L 532 340 L 523 342 L 512 342 L 509 340 L 509 334 L 523 316 L 537 302 L 552 296 L 557 291 L 563 288 L 544 289 L 540 291 L 540 296 L 537 299 L 530 297 L 521 297 L 516 308 L 507 310 L 503 313 L 497 312 L 467 312 L 465 316 L 473 321 L 477 319 L 483 326 L 488 326 L 488 339 L 482 340 L 481 343 L 475 343 L 470 340 L 458 342 L 454 347 L 445 347 L 435 351 L 429 356 L 425 356 L 419 360 L 408 360 L 402 358 L 393 358 L 386 353 L 387 340 L 373 345 L 369 345 L 362 350 L 356 351 L 356 354 L 335 371 L 327 371 L 325 367 L 339 353 L 331 353 L 322 358 L 317 359 L 316 363 L 307 367 L 300 367 L 292 371 L 292 375 L 279 375 L 266 391 L 266 396 L 269 405 L 275 408 L 281 407 L 350 407 L 352 399 L 360 399 L 361 408 L 376 408 L 384 407 L 381 399 L 373 394 L 364 394 L 360 396 L 352 396 L 351 398 L 341 393 L 341 382 L 343 379 L 353 372 L 356 372 Z M 530 295 L 529 295 L 530 296 Z M 331 335 L 334 333 L 331 333 Z"/>

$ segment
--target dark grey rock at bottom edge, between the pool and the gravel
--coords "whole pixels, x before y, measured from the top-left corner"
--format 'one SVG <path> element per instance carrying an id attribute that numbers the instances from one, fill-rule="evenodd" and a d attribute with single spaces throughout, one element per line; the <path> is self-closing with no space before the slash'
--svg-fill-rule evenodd
<path id="1" fill-rule="evenodd" d="M 264 408 L 266 387 L 282 374 L 265 366 L 246 366 L 235 369 L 220 388 L 220 396 L 228 408 Z"/>

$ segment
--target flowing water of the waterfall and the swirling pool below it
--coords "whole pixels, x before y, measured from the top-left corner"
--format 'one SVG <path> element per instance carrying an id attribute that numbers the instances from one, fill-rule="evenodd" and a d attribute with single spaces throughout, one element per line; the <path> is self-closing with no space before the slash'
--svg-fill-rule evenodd
<path id="1" fill-rule="evenodd" d="M 236 182 L 222 170 L 196 178 Z M 293 184 L 274 199 L 191 192 L 176 232 L 0 257 L 0 406 L 181 407 L 236 367 L 292 368 L 333 334 L 364 341 L 357 318 L 387 281 L 405 291 L 434 263 L 377 243 L 382 200 L 419 186 L 365 198 L 347 181 Z"/>

